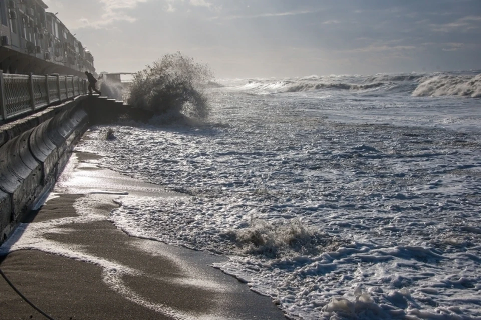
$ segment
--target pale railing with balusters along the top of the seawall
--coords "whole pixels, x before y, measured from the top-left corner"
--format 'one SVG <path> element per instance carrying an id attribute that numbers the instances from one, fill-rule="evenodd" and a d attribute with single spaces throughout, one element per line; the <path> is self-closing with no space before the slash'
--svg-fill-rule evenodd
<path id="1" fill-rule="evenodd" d="M 0 71 L 0 121 L 87 94 L 84 78 L 65 75 L 17 75 Z"/>

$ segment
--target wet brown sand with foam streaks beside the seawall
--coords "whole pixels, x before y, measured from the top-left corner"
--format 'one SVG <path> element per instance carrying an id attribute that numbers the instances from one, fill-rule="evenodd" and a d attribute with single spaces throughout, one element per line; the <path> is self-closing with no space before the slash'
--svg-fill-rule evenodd
<path id="1" fill-rule="evenodd" d="M 56 197 L 2 246 L 13 252 L 0 268 L 31 302 L 55 319 L 284 318 L 270 298 L 210 266 L 225 257 L 116 229 L 106 219 L 115 198 L 183 195 L 98 169 L 95 158 L 74 155 Z M 0 279 L 0 319 L 29 318 L 44 317 Z"/>

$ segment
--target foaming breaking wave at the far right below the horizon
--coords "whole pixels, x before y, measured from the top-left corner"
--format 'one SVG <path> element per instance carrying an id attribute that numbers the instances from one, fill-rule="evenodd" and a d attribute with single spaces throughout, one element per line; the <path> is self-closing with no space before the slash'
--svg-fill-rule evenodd
<path id="1" fill-rule="evenodd" d="M 438 75 L 423 80 L 413 91 L 413 96 L 481 97 L 481 74 L 475 76 Z"/>

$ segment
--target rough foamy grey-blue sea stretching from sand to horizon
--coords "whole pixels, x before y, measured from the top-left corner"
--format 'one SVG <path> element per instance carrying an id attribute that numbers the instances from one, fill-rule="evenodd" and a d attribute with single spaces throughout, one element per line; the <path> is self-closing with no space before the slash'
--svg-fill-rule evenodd
<path id="1" fill-rule="evenodd" d="M 205 117 L 123 120 L 77 145 L 186 195 L 119 198 L 119 229 L 228 257 L 214 267 L 290 318 L 481 317 L 481 71 L 203 90 Z"/>

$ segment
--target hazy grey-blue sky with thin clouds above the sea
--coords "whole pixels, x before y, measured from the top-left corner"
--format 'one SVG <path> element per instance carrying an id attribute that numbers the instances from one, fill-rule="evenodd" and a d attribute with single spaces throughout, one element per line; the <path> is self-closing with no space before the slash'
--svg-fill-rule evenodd
<path id="1" fill-rule="evenodd" d="M 98 73 L 178 51 L 218 78 L 481 69 L 481 0 L 44 2 Z"/>

